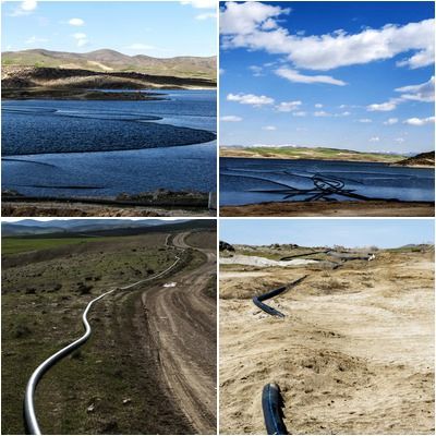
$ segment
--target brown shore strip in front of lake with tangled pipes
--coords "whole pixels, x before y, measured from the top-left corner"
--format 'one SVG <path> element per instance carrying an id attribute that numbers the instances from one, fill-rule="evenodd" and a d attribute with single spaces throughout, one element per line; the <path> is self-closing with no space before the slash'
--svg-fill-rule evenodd
<path id="1" fill-rule="evenodd" d="M 271 202 L 221 206 L 222 217 L 433 217 L 429 202 Z"/>

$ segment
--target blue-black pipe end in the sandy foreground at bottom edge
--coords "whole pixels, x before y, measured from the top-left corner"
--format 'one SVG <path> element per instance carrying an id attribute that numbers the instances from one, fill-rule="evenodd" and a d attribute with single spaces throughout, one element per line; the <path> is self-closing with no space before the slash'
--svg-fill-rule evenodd
<path id="1" fill-rule="evenodd" d="M 264 386 L 262 392 L 262 409 L 264 410 L 265 426 L 268 435 L 287 435 L 288 431 L 283 423 L 283 399 L 280 388 L 275 383 Z"/>

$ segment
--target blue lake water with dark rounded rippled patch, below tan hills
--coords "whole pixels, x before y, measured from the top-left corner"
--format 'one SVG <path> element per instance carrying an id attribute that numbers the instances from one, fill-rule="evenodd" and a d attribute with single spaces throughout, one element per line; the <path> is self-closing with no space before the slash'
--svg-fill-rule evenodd
<path id="1" fill-rule="evenodd" d="M 36 196 L 216 191 L 216 92 L 2 105 L 2 187 Z"/>

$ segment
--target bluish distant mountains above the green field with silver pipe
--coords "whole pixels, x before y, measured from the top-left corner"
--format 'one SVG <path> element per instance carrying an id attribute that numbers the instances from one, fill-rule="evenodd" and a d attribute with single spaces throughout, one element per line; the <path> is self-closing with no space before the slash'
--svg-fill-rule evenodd
<path id="1" fill-rule="evenodd" d="M 47 221 L 39 221 L 36 219 L 22 219 L 15 222 L 3 221 L 1 225 L 1 232 L 3 237 L 23 237 L 49 233 L 82 233 L 88 231 L 156 227 L 184 221 L 185 220 L 166 221 L 161 219 L 51 219 Z"/>

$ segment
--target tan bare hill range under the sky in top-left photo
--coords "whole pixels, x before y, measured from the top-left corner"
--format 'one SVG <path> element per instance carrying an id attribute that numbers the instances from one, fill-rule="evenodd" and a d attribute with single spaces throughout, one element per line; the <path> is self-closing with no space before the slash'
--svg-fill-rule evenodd
<path id="1" fill-rule="evenodd" d="M 32 49 L 4 51 L 2 66 L 46 66 L 96 72 L 136 72 L 152 75 L 171 75 L 216 80 L 216 57 L 153 58 L 145 55 L 128 56 L 116 50 L 101 49 L 87 53 Z"/>

